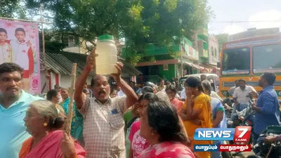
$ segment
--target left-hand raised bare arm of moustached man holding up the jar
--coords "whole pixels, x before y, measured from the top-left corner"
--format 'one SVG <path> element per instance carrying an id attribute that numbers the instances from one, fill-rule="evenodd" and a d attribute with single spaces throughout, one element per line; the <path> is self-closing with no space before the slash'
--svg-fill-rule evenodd
<path id="1" fill-rule="evenodd" d="M 87 56 L 86 60 L 86 66 L 84 67 L 83 72 L 78 77 L 76 83 L 75 83 L 75 93 L 74 93 L 74 100 L 79 109 L 81 109 L 84 100 L 85 95 L 83 94 L 84 85 L 86 83 L 87 77 L 89 76 L 89 73 L 93 70 L 93 68 L 96 66 L 95 58 L 97 54 L 95 54 L 95 49 L 93 49 L 90 53 L 90 55 Z"/>

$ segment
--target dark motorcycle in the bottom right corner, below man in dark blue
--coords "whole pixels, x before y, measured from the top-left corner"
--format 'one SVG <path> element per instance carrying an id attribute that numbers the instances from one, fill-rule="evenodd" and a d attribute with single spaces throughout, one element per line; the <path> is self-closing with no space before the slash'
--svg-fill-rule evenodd
<path id="1" fill-rule="evenodd" d="M 267 136 L 277 136 L 281 134 L 281 126 L 268 126 L 257 140 L 254 148 L 258 148 L 260 152 L 256 155 L 249 155 L 247 158 L 278 158 L 281 157 L 281 143 L 264 143 Z"/>

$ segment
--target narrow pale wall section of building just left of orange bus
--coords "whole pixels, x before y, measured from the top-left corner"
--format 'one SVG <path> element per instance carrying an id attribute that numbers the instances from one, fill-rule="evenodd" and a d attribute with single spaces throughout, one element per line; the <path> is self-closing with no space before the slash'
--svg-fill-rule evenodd
<path id="1" fill-rule="evenodd" d="M 218 39 L 212 34 L 209 37 L 209 63 L 216 65 L 219 61 Z"/>

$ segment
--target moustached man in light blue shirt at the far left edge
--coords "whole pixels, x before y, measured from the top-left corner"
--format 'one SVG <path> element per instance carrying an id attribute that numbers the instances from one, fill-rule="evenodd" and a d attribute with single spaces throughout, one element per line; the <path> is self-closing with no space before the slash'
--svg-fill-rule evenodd
<path id="1" fill-rule="evenodd" d="M 11 62 L 0 65 L 0 157 L 18 158 L 23 141 L 30 137 L 25 131 L 25 112 L 34 100 L 21 90 L 22 68 Z"/>

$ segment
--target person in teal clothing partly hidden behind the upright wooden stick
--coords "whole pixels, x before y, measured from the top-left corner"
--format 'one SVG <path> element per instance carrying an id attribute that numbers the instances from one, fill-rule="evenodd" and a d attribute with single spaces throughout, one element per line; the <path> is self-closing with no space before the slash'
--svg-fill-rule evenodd
<path id="1" fill-rule="evenodd" d="M 63 102 L 60 103 L 60 106 L 63 107 L 65 114 L 68 113 L 68 105 L 70 104 L 70 88 L 62 88 L 61 96 L 63 98 Z M 77 139 L 79 143 L 84 147 L 84 139 L 83 139 L 83 123 L 84 118 L 78 112 L 75 102 L 73 103 L 73 111 L 72 111 L 72 124 L 70 134 L 73 138 Z"/>

